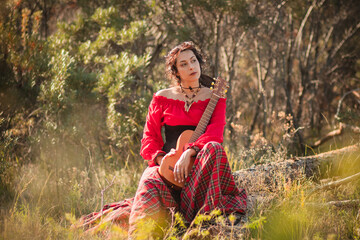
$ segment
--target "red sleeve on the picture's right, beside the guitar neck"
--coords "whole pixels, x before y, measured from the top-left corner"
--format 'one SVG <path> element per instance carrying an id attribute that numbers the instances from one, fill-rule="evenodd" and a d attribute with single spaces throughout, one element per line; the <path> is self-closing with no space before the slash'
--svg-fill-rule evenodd
<path id="1" fill-rule="evenodd" d="M 220 98 L 210 118 L 209 124 L 205 129 L 205 133 L 202 134 L 194 143 L 190 143 L 189 147 L 196 146 L 202 149 L 206 143 L 211 141 L 222 143 L 224 140 L 223 134 L 226 124 L 225 118 L 226 99 Z"/>

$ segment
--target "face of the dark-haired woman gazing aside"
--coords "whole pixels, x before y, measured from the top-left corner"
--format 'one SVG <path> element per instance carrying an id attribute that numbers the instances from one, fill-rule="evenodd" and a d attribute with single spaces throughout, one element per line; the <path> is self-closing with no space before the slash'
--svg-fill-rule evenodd
<path id="1" fill-rule="evenodd" d="M 197 82 L 201 75 L 200 63 L 191 50 L 185 50 L 176 59 L 177 76 L 181 83 L 191 84 Z"/>

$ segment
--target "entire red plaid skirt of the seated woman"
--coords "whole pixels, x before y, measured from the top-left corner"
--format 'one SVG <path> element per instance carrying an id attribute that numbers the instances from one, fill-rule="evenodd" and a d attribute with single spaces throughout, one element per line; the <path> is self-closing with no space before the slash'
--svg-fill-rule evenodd
<path id="1" fill-rule="evenodd" d="M 209 142 L 199 152 L 181 190 L 180 204 L 160 177 L 158 168 L 145 169 L 135 197 L 105 205 L 102 211 L 83 217 L 81 225 L 87 231 L 95 231 L 102 223 L 113 222 L 131 233 L 141 219 L 164 219 L 171 209 L 180 212 L 186 223 L 197 214 L 215 209 L 224 214 L 245 214 L 246 192 L 236 187 L 221 144 Z"/>

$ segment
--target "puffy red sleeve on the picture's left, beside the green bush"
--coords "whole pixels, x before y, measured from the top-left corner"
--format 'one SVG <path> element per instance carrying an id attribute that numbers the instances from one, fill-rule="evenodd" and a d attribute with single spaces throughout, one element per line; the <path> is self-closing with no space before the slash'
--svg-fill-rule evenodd
<path id="1" fill-rule="evenodd" d="M 157 165 L 155 158 L 158 155 L 165 155 L 165 152 L 161 150 L 164 145 L 164 140 L 161 136 L 162 113 L 161 105 L 157 103 L 157 98 L 153 97 L 146 116 L 140 150 L 141 156 L 145 160 L 149 160 L 149 166 Z"/>

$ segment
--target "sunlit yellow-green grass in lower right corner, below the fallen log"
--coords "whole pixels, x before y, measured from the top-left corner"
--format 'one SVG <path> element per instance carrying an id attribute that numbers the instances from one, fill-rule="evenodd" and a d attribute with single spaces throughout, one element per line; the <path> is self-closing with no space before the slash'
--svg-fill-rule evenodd
<path id="1" fill-rule="evenodd" d="M 344 156 L 340 162 L 341 164 L 329 168 L 328 177 L 345 177 L 360 170 L 359 153 Z M 314 183 L 305 179 L 278 189 L 275 193 L 278 196 L 271 201 L 269 207 L 260 206 L 260 209 L 254 209 L 253 216 L 250 216 L 249 222 L 244 225 L 249 229 L 249 237 L 358 239 L 360 203 L 337 207 L 329 202 L 360 199 L 359 180 L 315 193 L 309 191 L 313 188 Z"/>

